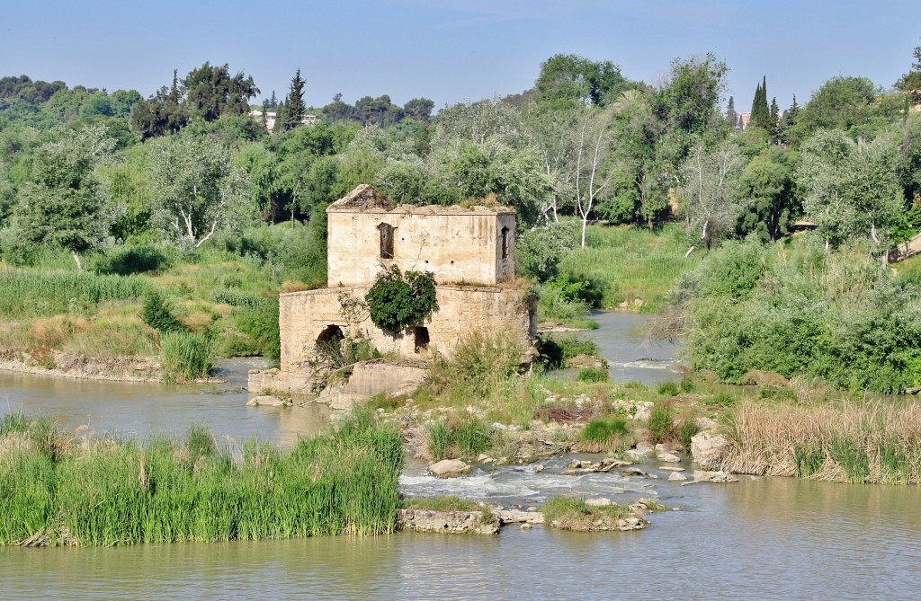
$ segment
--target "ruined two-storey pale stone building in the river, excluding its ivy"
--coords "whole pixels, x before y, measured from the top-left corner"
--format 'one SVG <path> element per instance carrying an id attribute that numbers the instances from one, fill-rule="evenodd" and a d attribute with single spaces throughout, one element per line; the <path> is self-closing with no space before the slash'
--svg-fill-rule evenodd
<path id="1" fill-rule="evenodd" d="M 326 213 L 327 287 L 280 295 L 281 365 L 252 373 L 251 392 L 309 394 L 318 345 L 344 338 L 417 359 L 450 356 L 474 331 L 511 336 L 530 349 L 536 316 L 515 278 L 513 210 L 396 204 L 362 185 Z M 395 334 L 377 328 L 364 305 L 379 273 L 391 265 L 432 272 L 437 283 L 438 310 Z"/>

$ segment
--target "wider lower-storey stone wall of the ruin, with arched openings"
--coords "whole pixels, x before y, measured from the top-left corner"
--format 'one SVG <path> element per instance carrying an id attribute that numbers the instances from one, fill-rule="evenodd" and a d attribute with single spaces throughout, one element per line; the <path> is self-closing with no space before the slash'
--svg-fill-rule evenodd
<path id="1" fill-rule="evenodd" d="M 281 295 L 281 371 L 309 371 L 318 341 L 337 336 L 363 338 L 381 353 L 425 358 L 433 351 L 450 356 L 472 331 L 513 336 L 529 348 L 537 329 L 536 311 L 527 291 L 512 287 L 437 286 L 438 311 L 420 328 L 400 334 L 378 329 L 367 310 L 349 315 L 341 304 L 364 300 L 368 286 L 342 286 Z M 420 331 L 424 329 L 425 331 Z"/>

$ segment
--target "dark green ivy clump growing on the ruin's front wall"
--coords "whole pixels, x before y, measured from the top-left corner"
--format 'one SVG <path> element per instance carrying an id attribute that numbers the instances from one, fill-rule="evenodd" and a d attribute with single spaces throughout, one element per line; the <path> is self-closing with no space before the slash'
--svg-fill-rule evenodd
<path id="1" fill-rule="evenodd" d="M 438 310 L 435 276 L 430 272 L 400 272 L 392 265 L 381 273 L 365 295 L 374 325 L 396 333 L 431 318 Z"/>

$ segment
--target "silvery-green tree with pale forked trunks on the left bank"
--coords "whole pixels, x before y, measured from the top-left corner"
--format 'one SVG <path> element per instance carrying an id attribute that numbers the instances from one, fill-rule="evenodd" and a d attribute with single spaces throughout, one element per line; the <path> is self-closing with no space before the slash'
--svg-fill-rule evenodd
<path id="1" fill-rule="evenodd" d="M 153 223 L 195 247 L 217 232 L 238 229 L 255 213 L 246 172 L 226 145 L 210 138 L 182 133 L 158 141 L 148 177 Z"/>

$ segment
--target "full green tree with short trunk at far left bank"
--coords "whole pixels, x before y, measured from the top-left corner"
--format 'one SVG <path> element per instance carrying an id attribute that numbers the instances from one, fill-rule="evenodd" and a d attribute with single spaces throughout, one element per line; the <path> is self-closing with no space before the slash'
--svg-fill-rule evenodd
<path id="1" fill-rule="evenodd" d="M 96 167 L 111 159 L 114 146 L 102 125 L 55 130 L 36 151 L 32 180 L 20 194 L 19 234 L 70 250 L 81 269 L 80 254 L 99 246 L 111 223 L 110 193 Z"/>

